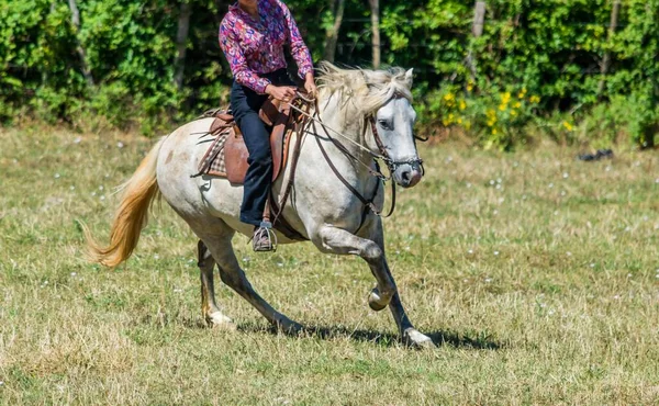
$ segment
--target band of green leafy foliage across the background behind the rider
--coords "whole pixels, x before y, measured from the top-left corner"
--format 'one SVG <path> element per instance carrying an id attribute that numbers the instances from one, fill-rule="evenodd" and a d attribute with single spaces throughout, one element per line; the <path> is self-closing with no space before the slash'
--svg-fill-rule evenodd
<path id="1" fill-rule="evenodd" d="M 216 36 L 230 2 L 187 1 L 192 13 L 179 89 L 174 76 L 180 1 L 78 1 L 76 29 L 66 1 L 0 0 L 0 121 L 31 111 L 54 122 L 82 125 L 97 117 L 150 133 L 225 105 L 231 72 Z M 287 4 L 317 61 L 335 4 Z M 484 146 L 510 149 L 526 138 L 529 124 L 560 128 L 563 122 L 583 133 L 557 135 L 563 140 L 624 134 L 652 146 L 659 122 L 659 0 L 627 0 L 619 10 L 612 33 L 612 1 L 490 0 L 483 35 L 474 38 L 473 2 L 381 2 L 382 60 L 415 68 L 422 122 L 445 125 L 450 114 L 459 115 L 462 123 L 446 125 L 463 126 Z M 337 63 L 370 64 L 369 16 L 365 2 L 346 0 Z M 80 49 L 94 86 L 82 75 Z M 602 75 L 605 57 L 610 64 Z M 499 110 L 501 94 L 522 89 L 539 102 Z M 450 92 L 463 94 L 465 111 L 443 102 Z M 490 110 L 496 128 L 487 125 Z"/>

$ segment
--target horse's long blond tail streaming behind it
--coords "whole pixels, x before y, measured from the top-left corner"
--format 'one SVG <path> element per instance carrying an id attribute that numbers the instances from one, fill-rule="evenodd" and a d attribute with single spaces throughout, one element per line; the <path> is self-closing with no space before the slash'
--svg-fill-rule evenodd
<path id="1" fill-rule="evenodd" d="M 107 247 L 100 246 L 87 226 L 82 225 L 91 261 L 116 267 L 133 253 L 139 234 L 148 221 L 148 208 L 159 192 L 156 163 L 164 140 L 165 137 L 142 160 L 131 179 L 119 188 L 122 198 L 112 223 L 110 244 Z"/>

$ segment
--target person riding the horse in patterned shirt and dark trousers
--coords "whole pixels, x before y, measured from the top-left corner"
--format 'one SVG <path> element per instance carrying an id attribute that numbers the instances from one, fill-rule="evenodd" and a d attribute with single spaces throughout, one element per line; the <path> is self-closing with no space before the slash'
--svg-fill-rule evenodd
<path id="1" fill-rule="evenodd" d="M 230 5 L 220 25 L 220 46 L 234 82 L 231 110 L 249 151 L 241 221 L 254 225 L 254 250 L 270 251 L 268 229 L 261 224 L 272 179 L 269 134 L 258 111 L 268 95 L 290 101 L 295 88 L 287 74 L 283 45 L 290 44 L 304 79 L 304 89 L 316 93 L 309 48 L 289 9 L 280 0 L 238 0 Z"/>

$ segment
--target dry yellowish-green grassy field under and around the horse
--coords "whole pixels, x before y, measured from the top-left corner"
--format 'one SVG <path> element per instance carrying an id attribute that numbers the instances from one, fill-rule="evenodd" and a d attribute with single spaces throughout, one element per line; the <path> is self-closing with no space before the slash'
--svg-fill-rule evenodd
<path id="1" fill-rule="evenodd" d="M 306 334 L 272 331 L 225 286 L 238 328 L 205 328 L 196 239 L 166 205 L 125 266 L 87 263 L 76 221 L 107 238 L 112 188 L 152 143 L 0 129 L 0 403 L 659 403 L 656 153 L 422 149 L 426 177 L 386 219 L 403 302 L 437 343 L 417 351 L 368 308 L 361 260 L 309 244 L 235 239 Z"/>

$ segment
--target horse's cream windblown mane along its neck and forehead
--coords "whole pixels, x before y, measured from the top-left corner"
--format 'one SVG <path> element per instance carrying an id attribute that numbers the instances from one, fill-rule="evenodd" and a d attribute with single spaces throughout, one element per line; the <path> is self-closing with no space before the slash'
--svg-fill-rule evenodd
<path id="1" fill-rule="evenodd" d="M 319 89 L 321 100 L 330 97 L 340 98 L 338 105 L 347 113 L 348 101 L 350 113 L 368 115 L 376 112 L 394 94 L 412 101 L 412 80 L 402 68 L 387 70 L 342 69 L 327 61 L 320 65 Z M 356 111 L 355 111 L 356 109 Z"/>

